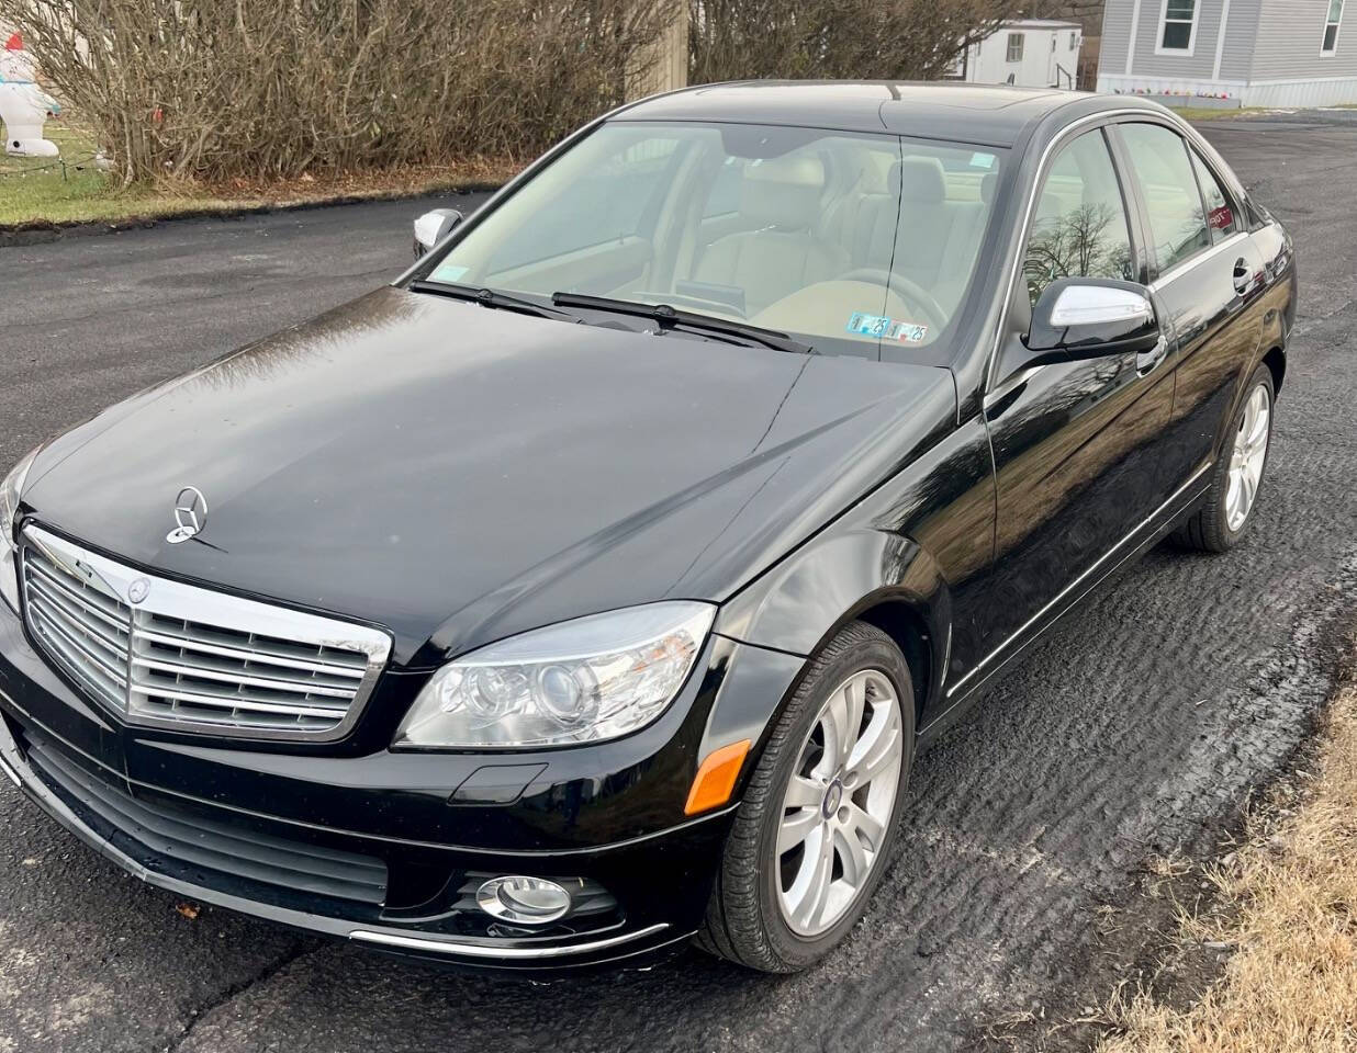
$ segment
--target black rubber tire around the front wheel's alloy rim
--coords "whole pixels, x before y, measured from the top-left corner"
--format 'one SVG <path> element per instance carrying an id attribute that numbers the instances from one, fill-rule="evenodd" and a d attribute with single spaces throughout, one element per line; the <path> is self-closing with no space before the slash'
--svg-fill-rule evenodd
<path id="1" fill-rule="evenodd" d="M 783 920 L 778 903 L 779 870 L 776 842 L 778 829 L 782 823 L 782 798 L 801 758 L 801 747 L 810 735 L 829 693 L 848 680 L 854 674 L 866 669 L 874 669 L 885 675 L 890 680 L 892 687 L 896 688 L 896 698 L 901 707 L 901 735 L 905 741 L 905 751 L 900 764 L 900 785 L 896 787 L 896 801 L 892 808 L 890 821 L 886 824 L 886 835 L 877 855 L 871 877 L 858 890 L 852 905 L 837 924 L 817 936 L 802 936 L 792 932 Z M 825 664 L 813 669 L 811 675 L 798 686 L 783 714 L 783 720 L 791 720 L 792 726 L 786 739 L 787 748 L 780 751 L 772 766 L 772 786 L 775 789 L 769 797 L 769 806 L 763 816 L 759 832 L 759 909 L 763 922 L 761 927 L 776 957 L 786 962 L 788 968 L 799 969 L 811 965 L 828 954 L 858 923 L 867 901 L 881 884 L 881 878 L 889 866 L 892 848 L 898 832 L 900 813 L 904 808 L 909 770 L 913 766 L 915 693 L 909 667 L 900 649 L 883 634 L 856 642 L 854 646 L 849 646 L 843 653 L 830 657 Z"/>

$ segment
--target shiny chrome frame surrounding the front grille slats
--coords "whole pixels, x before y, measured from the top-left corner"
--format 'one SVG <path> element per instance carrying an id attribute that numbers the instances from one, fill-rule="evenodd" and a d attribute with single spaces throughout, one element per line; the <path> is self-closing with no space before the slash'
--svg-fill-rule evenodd
<path id="1" fill-rule="evenodd" d="M 81 688 L 84 697 L 129 726 L 160 728 L 195 736 L 220 736 L 256 741 L 337 741 L 349 735 L 358 722 L 387 665 L 387 660 L 391 657 L 394 641 L 385 632 L 319 614 L 308 614 L 271 603 L 244 599 L 201 585 L 187 585 L 155 573 L 144 573 L 136 568 L 125 566 L 114 560 L 90 552 L 81 545 L 33 523 L 26 524 L 20 531 L 20 560 L 16 568 L 19 569 L 24 626 L 28 627 L 28 632 L 33 632 L 28 625 L 28 575 L 23 573 L 23 560 L 26 558 L 26 550 L 30 548 L 65 569 L 73 579 L 83 580 L 95 591 L 125 604 L 132 613 L 129 614 L 126 630 L 129 636 L 129 653 L 122 707 L 117 709 L 110 705 L 109 699 L 88 688 Z M 133 583 L 149 584 L 149 594 L 140 603 L 133 603 L 129 598 L 129 588 Z M 155 717 L 136 711 L 132 707 L 132 697 L 137 690 L 132 674 L 134 659 L 132 641 L 137 633 L 152 632 L 153 634 L 153 630 L 134 627 L 137 611 L 194 622 L 204 627 L 252 633 L 305 646 L 356 652 L 366 657 L 366 665 L 361 678 L 356 678 L 357 686 L 343 718 L 334 726 L 322 730 L 237 726 L 227 722 L 195 721 L 191 718 L 170 720 Z M 77 676 L 72 676 L 64 664 L 57 664 L 52 660 L 46 646 L 41 646 L 39 653 L 43 655 L 49 665 L 57 668 L 68 679 L 79 680 Z M 304 664 L 305 660 L 297 659 L 296 661 Z M 319 660 L 318 664 L 320 664 Z M 357 672 L 358 668 L 361 667 L 356 664 L 353 671 Z"/>

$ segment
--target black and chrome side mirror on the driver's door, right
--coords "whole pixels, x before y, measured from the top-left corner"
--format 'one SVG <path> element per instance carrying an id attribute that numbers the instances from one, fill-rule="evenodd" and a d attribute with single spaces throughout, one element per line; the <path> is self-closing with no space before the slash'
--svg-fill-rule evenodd
<path id="1" fill-rule="evenodd" d="M 1159 344 L 1159 323 L 1149 291 L 1110 278 L 1061 278 L 1042 291 L 1023 344 L 1029 366 L 1076 362 Z"/>

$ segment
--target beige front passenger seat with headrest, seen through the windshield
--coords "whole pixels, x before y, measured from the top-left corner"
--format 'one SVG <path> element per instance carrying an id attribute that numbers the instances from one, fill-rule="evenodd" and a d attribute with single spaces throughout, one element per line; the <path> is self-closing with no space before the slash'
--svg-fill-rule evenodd
<path id="1" fill-rule="evenodd" d="M 848 253 L 814 230 L 824 186 L 824 165 L 814 157 L 750 163 L 740 213 L 754 229 L 708 245 L 693 279 L 745 290 L 745 310 L 753 316 L 798 289 L 841 274 Z"/>

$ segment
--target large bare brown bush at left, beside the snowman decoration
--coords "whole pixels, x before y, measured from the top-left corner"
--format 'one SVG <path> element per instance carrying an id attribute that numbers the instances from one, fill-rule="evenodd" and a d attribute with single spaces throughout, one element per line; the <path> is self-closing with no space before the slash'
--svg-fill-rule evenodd
<path id="1" fill-rule="evenodd" d="M 527 159 L 623 100 L 664 0 L 0 0 L 126 180 Z"/>

